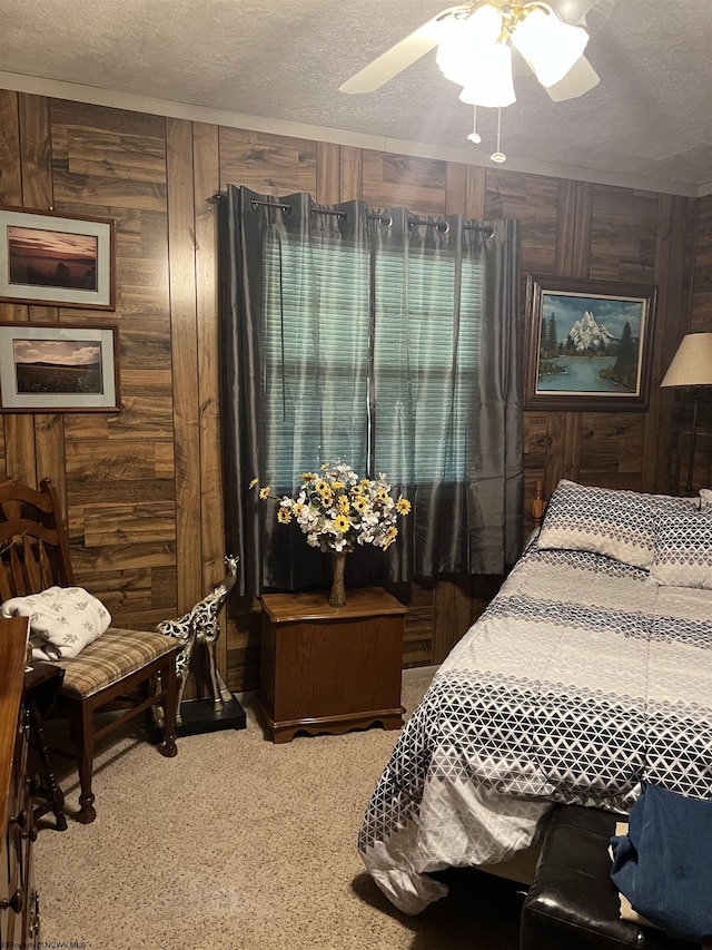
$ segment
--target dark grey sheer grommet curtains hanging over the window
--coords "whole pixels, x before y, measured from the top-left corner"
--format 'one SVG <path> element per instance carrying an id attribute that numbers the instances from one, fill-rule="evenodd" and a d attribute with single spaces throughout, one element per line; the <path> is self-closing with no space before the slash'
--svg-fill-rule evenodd
<path id="1" fill-rule="evenodd" d="M 502 574 L 520 552 L 518 223 L 320 206 L 229 186 L 220 200 L 226 543 L 244 594 L 325 585 L 327 558 L 254 478 L 293 493 L 340 459 L 413 505 L 348 584 Z"/>

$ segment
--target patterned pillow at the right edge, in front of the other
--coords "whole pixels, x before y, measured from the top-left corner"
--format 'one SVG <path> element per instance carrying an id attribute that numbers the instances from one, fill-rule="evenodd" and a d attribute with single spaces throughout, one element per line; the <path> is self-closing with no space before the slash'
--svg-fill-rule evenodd
<path id="1" fill-rule="evenodd" d="M 668 587 L 712 590 L 712 508 L 660 513 L 650 576 Z"/>

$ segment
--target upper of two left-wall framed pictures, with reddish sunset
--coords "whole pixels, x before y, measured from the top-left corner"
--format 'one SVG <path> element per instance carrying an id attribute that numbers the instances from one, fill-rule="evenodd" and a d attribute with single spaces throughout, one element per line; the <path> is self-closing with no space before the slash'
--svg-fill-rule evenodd
<path id="1" fill-rule="evenodd" d="M 111 218 L 0 207 L 0 301 L 115 310 Z"/>

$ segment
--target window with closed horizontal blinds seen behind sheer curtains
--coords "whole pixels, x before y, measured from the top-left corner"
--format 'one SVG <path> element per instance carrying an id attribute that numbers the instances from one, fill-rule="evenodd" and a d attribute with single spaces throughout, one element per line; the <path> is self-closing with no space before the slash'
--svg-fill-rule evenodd
<path id="1" fill-rule="evenodd" d="M 462 479 L 479 400 L 483 265 L 461 259 L 266 237 L 265 444 L 275 489 L 291 491 L 295 474 L 335 458 L 395 483 Z"/>

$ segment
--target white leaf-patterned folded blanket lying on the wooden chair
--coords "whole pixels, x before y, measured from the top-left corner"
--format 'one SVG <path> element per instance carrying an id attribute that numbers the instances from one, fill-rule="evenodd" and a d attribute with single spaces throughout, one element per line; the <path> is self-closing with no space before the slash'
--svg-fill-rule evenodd
<path id="1" fill-rule="evenodd" d="M 30 597 L 12 597 L 0 606 L 3 617 L 29 617 L 32 659 L 77 656 L 100 637 L 111 615 L 82 587 L 48 587 Z"/>

